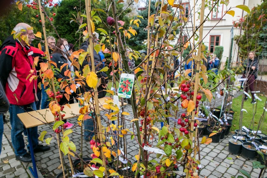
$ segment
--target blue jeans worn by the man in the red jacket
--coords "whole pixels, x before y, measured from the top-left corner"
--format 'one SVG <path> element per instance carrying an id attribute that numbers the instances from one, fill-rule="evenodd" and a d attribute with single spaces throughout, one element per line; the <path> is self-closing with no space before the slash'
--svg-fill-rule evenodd
<path id="1" fill-rule="evenodd" d="M 22 136 L 22 133 L 26 128 L 24 127 L 23 123 L 17 116 L 17 114 L 19 113 L 25 113 L 24 110 L 27 112 L 36 110 L 35 102 L 32 102 L 24 106 L 10 104 L 9 107 L 10 123 L 11 123 L 11 140 L 13 148 L 15 150 L 15 154 L 17 156 L 21 156 L 27 153 L 27 150 L 25 149 L 24 139 Z M 35 149 L 38 145 L 38 127 L 32 127 L 29 128 L 29 130 L 31 133 L 31 138 L 28 137 L 28 139 L 32 139 L 33 149 Z M 29 150 L 29 145 L 27 145 L 27 148 Z"/>

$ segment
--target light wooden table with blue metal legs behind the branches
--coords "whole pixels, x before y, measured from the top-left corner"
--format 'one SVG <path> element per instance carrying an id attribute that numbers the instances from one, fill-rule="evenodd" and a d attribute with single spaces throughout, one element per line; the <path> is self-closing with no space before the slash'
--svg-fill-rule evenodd
<path id="1" fill-rule="evenodd" d="M 107 98 L 105 98 L 105 97 L 99 98 L 100 111 L 103 110 L 103 108 L 101 106 L 103 106 L 105 104 L 105 101 L 107 101 Z M 125 103 L 125 102 L 123 102 L 123 104 L 127 105 L 127 103 Z M 119 102 L 119 105 L 121 106 L 122 103 Z M 70 118 L 77 117 L 77 115 L 80 115 L 80 113 L 79 113 L 80 107 L 79 107 L 78 103 L 70 104 L 70 108 L 68 106 L 64 105 L 63 111 L 65 112 L 64 113 L 65 114 L 64 119 L 70 119 Z M 42 114 L 43 116 L 40 114 Z M 27 128 L 27 132 L 28 132 L 28 142 L 29 142 L 30 153 L 31 153 L 31 157 L 32 157 L 33 168 L 34 168 L 34 170 L 32 170 L 32 168 L 29 167 L 29 170 L 31 171 L 31 173 L 34 177 L 38 178 L 36 163 L 35 163 L 35 159 L 34 159 L 34 150 L 33 150 L 32 140 L 29 139 L 29 138 L 31 138 L 29 128 L 36 127 L 36 126 L 43 125 L 43 124 L 53 123 L 53 122 L 55 122 L 55 119 L 54 119 L 53 114 L 49 110 L 49 108 L 40 109 L 37 111 L 30 111 L 28 113 L 27 112 L 26 113 L 20 113 L 17 115 L 18 115 L 18 118 L 21 120 L 21 122 L 24 124 L 25 128 Z"/>

